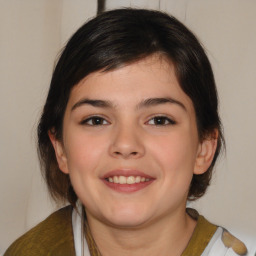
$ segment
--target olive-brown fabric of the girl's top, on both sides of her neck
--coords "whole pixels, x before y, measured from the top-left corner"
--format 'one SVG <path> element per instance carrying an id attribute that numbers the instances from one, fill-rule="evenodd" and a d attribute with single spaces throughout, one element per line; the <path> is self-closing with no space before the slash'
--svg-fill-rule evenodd
<path id="1" fill-rule="evenodd" d="M 198 256 L 211 240 L 217 226 L 209 223 L 203 216 L 193 216 L 193 211 L 189 214 L 197 219 L 197 225 L 181 256 Z M 87 241 L 91 255 L 100 255 L 94 241 L 88 239 L 88 234 Z M 72 207 L 67 206 L 50 215 L 16 240 L 4 256 L 75 256 Z"/>

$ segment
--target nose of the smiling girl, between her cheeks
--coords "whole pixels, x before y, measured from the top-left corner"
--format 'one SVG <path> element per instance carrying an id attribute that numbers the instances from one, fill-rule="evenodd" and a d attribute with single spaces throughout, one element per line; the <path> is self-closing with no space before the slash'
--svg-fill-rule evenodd
<path id="1" fill-rule="evenodd" d="M 140 158 L 145 154 L 143 135 L 139 127 L 119 125 L 114 131 L 110 154 L 115 158 Z"/>

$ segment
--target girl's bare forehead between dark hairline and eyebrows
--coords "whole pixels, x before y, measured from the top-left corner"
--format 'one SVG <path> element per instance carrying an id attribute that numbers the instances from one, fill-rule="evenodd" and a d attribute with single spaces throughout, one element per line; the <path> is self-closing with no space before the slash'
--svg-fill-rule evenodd
<path id="1" fill-rule="evenodd" d="M 178 82 L 175 66 L 166 58 L 153 55 L 111 71 L 89 74 L 73 87 L 68 105 L 82 98 L 132 105 L 152 97 L 170 97 L 191 108 L 190 98 Z"/>

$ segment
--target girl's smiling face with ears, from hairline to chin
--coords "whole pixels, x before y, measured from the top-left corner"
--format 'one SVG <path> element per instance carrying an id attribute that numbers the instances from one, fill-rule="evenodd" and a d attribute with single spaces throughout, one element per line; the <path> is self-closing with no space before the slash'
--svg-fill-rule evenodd
<path id="1" fill-rule="evenodd" d="M 193 104 L 157 56 L 84 78 L 71 91 L 63 141 L 51 139 L 87 215 L 119 227 L 184 214 L 192 175 L 210 164 Z"/>

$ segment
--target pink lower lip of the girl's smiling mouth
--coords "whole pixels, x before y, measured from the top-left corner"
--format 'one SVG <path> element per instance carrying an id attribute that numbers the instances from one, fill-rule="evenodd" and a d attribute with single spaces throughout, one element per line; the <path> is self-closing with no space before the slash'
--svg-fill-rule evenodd
<path id="1" fill-rule="evenodd" d="M 132 192 L 142 190 L 142 189 L 146 188 L 147 186 L 149 186 L 153 181 L 154 180 L 149 180 L 149 181 L 134 183 L 134 184 L 118 184 L 118 183 L 114 183 L 114 182 L 108 182 L 105 179 L 103 180 L 103 182 L 109 188 L 111 188 L 115 191 L 118 191 L 118 192 L 122 192 L 122 193 L 132 193 Z"/>

